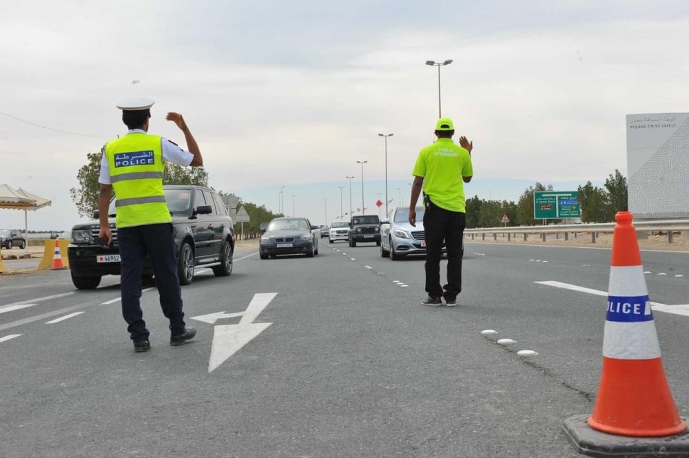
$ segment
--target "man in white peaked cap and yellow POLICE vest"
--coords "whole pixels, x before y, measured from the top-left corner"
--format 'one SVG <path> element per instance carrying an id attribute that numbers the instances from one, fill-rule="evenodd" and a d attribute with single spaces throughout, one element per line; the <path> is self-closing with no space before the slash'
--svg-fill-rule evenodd
<path id="1" fill-rule="evenodd" d="M 147 134 L 153 104 L 151 99 L 135 98 L 117 105 L 129 132 L 105 144 L 99 176 L 99 238 L 103 246 L 112 244 L 107 209 L 114 191 L 122 315 L 137 353 L 151 348 L 139 303 L 146 255 L 153 265 L 163 314 L 169 320 L 170 345 L 182 345 L 196 335 L 196 329 L 184 322 L 172 218 L 163 191 L 163 169 L 166 160 L 185 167 L 200 167 L 203 158 L 181 114 L 170 112 L 165 118 L 181 129 L 188 152 L 161 136 Z"/>

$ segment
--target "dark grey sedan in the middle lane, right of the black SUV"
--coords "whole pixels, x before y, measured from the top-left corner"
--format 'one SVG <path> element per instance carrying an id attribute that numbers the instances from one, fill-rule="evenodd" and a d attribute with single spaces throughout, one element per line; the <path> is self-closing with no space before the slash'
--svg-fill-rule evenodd
<path id="1" fill-rule="evenodd" d="M 308 218 L 273 218 L 260 236 L 258 256 L 268 259 L 279 254 L 305 254 L 307 258 L 313 258 L 318 254 L 317 229 L 318 226 L 311 225 Z"/>

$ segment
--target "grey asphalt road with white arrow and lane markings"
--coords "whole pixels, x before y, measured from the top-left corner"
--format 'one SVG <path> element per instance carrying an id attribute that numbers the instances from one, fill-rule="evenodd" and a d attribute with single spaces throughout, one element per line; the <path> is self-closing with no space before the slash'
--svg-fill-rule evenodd
<path id="1" fill-rule="evenodd" d="M 686 416 L 689 253 L 642 258 Z M 198 329 L 184 346 L 145 285 L 148 353 L 132 351 L 119 278 L 1 277 L 0 457 L 581 456 L 562 422 L 593 410 L 610 249 L 466 242 L 455 308 L 420 305 L 423 259 L 374 244 L 235 260 L 183 287 Z"/>

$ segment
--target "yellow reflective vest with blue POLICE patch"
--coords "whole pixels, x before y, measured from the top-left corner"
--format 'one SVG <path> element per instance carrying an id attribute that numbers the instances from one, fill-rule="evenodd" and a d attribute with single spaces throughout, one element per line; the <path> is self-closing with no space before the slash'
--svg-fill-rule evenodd
<path id="1" fill-rule="evenodd" d="M 115 191 L 116 227 L 171 222 L 163 191 L 161 137 L 139 132 L 105 145 Z"/>

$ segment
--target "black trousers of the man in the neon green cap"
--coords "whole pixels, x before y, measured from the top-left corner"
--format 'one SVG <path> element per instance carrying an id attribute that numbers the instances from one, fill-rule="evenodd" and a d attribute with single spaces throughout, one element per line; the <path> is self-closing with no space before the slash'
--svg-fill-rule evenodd
<path id="1" fill-rule="evenodd" d="M 426 205 L 426 292 L 433 298 L 455 299 L 462 292 L 462 238 L 466 214 L 442 209 L 432 202 Z M 442 242 L 447 249 L 447 283 L 440 286 Z M 444 292 L 443 292 L 444 290 Z"/>

